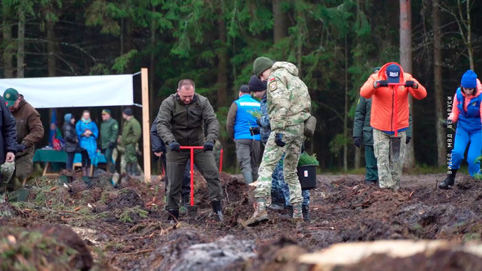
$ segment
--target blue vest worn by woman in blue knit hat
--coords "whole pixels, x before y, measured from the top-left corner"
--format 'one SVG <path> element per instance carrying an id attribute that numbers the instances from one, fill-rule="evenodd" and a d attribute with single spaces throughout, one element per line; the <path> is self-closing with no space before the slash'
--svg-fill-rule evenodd
<path id="1" fill-rule="evenodd" d="M 465 97 L 462 95 L 460 87 L 457 89 L 457 101 L 459 104 L 457 108 L 459 109 L 459 124 L 457 127 L 463 128 L 468 133 L 474 133 L 482 130 L 481 124 L 481 101 L 482 94 L 472 98 L 467 105 L 467 112 L 463 110 L 463 102 L 465 102 Z"/>

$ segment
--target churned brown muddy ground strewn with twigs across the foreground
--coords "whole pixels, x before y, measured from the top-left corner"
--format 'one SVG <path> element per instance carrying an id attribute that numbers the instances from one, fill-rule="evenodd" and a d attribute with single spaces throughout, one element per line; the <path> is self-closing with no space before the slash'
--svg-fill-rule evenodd
<path id="1" fill-rule="evenodd" d="M 480 241 L 482 233 L 482 182 L 463 175 L 450 191 L 435 188 L 443 175 L 406 175 L 396 192 L 366 185 L 361 175 L 319 175 L 311 191 L 311 222 L 297 227 L 284 214 L 269 211 L 270 221 L 255 228 L 242 224 L 253 211 L 253 188 L 239 176 L 222 173 L 224 221 L 218 223 L 205 181 L 196 173 L 200 210 L 192 224 L 187 215 L 181 215 L 178 224 L 167 221 L 161 180 L 141 184 L 124 177 L 119 188 L 108 180 L 108 175 L 81 180 L 77 173 L 64 185 L 41 178 L 28 188 L 28 202 L 0 204 L 0 269 L 300 270 L 303 266 L 293 263 L 297 255 L 333 243 Z M 52 234 L 62 231 L 58 228 L 46 232 L 51 225 L 65 225 L 61 229 L 67 233 Z M 47 250 L 58 257 L 48 256 Z M 470 260 L 454 261 L 464 270 L 476 270 L 470 267 L 477 265 L 470 264 L 481 259 L 465 258 Z M 382 260 L 385 265 L 370 263 Z M 429 262 L 435 270 L 438 261 Z M 366 268 L 386 270 L 391 264 L 370 257 Z"/>

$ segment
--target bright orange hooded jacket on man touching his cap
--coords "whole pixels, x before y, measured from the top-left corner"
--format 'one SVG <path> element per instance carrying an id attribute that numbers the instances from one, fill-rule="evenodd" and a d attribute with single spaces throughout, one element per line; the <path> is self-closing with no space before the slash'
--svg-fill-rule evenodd
<path id="1" fill-rule="evenodd" d="M 411 74 L 404 72 L 400 67 L 400 83 L 405 83 L 408 80 L 415 81 L 418 89 L 412 87 L 398 86 L 397 98 L 395 98 L 395 86 L 374 88 L 373 83 L 376 80 L 387 80 L 386 67 L 388 65 L 398 63 L 386 63 L 379 70 L 378 74 L 372 74 L 366 80 L 360 89 L 360 95 L 364 98 L 372 99 L 372 112 L 370 119 L 370 126 L 381 131 L 395 132 L 408 127 L 408 93 L 412 94 L 417 100 L 421 100 L 427 96 L 427 91 L 419 81 L 415 80 Z M 397 100 L 397 106 L 394 102 Z"/>

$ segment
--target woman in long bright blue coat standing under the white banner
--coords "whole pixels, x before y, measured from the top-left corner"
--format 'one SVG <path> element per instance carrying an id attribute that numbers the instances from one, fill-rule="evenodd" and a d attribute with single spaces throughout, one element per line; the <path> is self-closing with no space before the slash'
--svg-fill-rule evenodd
<path id="1" fill-rule="evenodd" d="M 82 118 L 79 120 L 75 126 L 75 131 L 78 137 L 78 144 L 81 145 L 82 149 L 86 149 L 89 154 L 82 161 L 82 171 L 84 175 L 88 175 L 90 171 L 88 170 L 91 161 L 95 161 L 97 158 L 97 138 L 98 138 L 98 128 L 95 122 L 90 119 L 90 111 L 85 110 L 82 113 Z"/>

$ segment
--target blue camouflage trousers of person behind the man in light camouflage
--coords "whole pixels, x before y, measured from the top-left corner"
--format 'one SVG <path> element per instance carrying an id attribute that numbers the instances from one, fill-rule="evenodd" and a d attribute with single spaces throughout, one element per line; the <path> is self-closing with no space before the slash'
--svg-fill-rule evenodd
<path id="1" fill-rule="evenodd" d="M 284 182 L 283 176 L 283 162 L 284 155 L 280 162 L 277 163 L 275 171 L 273 171 L 273 182 L 271 182 L 271 200 L 272 202 L 282 202 L 282 205 L 289 206 L 289 187 L 286 182 Z M 303 203 L 302 205 L 310 204 L 310 191 L 302 190 Z"/>

